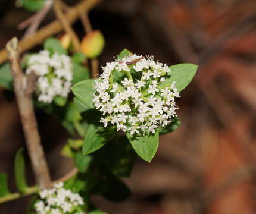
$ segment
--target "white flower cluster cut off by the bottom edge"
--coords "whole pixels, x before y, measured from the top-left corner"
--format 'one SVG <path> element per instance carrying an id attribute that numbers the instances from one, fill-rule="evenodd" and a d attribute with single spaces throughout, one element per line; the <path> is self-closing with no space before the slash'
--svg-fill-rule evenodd
<path id="1" fill-rule="evenodd" d="M 83 214 L 80 210 L 84 204 L 82 197 L 77 193 L 63 188 L 63 182 L 54 185 L 55 188 L 42 190 L 39 193 L 40 199 L 35 204 L 38 214 Z"/>

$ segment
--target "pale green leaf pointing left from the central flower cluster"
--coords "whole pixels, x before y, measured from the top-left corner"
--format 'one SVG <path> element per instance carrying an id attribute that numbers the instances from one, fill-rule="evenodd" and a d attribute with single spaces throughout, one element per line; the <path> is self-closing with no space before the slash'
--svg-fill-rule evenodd
<path id="1" fill-rule="evenodd" d="M 95 92 L 93 89 L 94 84 L 95 80 L 84 80 L 71 87 L 74 95 L 85 104 L 86 110 L 94 108 L 92 102 L 93 93 Z"/>

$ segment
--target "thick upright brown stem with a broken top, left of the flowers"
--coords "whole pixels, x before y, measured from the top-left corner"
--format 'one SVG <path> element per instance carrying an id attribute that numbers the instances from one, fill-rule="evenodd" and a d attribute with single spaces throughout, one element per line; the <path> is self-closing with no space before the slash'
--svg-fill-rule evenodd
<path id="1" fill-rule="evenodd" d="M 13 38 L 7 43 L 6 49 L 10 60 L 11 74 L 14 79 L 14 92 L 17 98 L 20 112 L 21 124 L 26 138 L 29 156 L 32 162 L 33 172 L 40 188 L 48 188 L 51 178 L 42 145 L 38 133 L 35 112 L 32 102 L 33 84 L 32 76 L 24 75 L 20 65 L 20 54 L 18 52 L 18 40 Z M 35 81 L 34 81 L 35 84 Z"/>

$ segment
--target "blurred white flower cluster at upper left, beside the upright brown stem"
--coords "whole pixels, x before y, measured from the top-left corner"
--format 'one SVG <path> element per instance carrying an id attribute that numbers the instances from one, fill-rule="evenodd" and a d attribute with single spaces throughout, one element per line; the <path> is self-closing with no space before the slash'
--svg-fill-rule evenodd
<path id="1" fill-rule="evenodd" d="M 38 75 L 36 83 L 38 100 L 51 103 L 55 96 L 67 97 L 73 79 L 72 64 L 69 56 L 43 50 L 30 56 L 26 73 Z"/>

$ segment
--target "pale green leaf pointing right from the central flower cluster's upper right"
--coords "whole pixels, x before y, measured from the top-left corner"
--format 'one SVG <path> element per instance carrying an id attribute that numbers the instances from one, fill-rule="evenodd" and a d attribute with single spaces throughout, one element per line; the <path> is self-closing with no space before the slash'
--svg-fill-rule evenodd
<path id="1" fill-rule="evenodd" d="M 161 83 L 160 86 L 171 85 L 173 81 L 176 81 L 175 86 L 180 92 L 183 89 L 185 89 L 185 87 L 188 86 L 188 84 L 191 82 L 191 80 L 196 74 L 197 68 L 198 68 L 198 65 L 189 64 L 189 63 L 172 65 L 170 67 L 171 77 L 168 78 L 163 83 Z"/>

